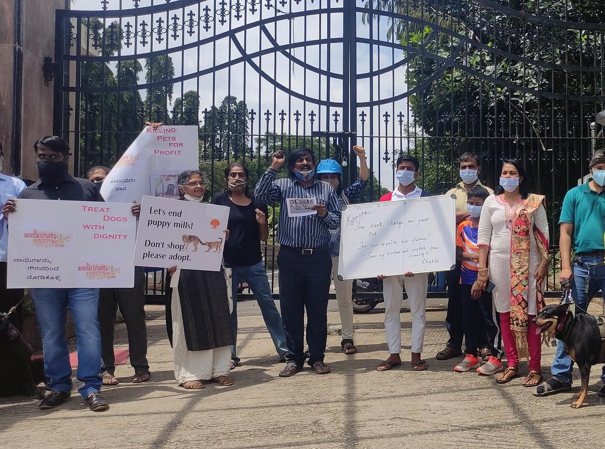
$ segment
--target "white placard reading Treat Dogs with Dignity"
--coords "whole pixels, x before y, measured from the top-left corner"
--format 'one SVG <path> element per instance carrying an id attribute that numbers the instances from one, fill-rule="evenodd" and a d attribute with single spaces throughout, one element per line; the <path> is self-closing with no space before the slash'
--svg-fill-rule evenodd
<path id="1" fill-rule="evenodd" d="M 8 288 L 132 287 L 131 205 L 18 200 L 8 217 Z"/>

